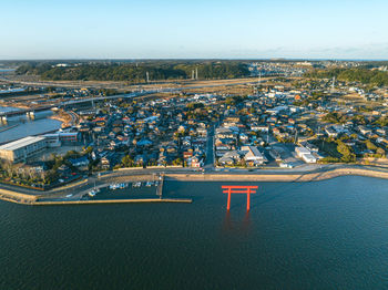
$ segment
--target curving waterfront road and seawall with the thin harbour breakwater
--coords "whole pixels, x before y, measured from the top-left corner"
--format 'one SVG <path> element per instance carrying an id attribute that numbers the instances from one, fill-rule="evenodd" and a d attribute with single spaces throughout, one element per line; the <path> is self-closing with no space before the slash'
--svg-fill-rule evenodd
<path id="1" fill-rule="evenodd" d="M 325 165 L 310 170 L 212 170 L 200 173 L 187 168 L 147 168 L 121 169 L 90 177 L 82 182 L 59 187 L 45 193 L 11 185 L 0 185 L 0 199 L 25 205 L 64 205 L 64 204 L 109 204 L 109 203 L 191 203 L 191 200 L 173 199 L 122 199 L 122 200 L 81 200 L 81 197 L 93 187 L 104 187 L 111 183 L 147 182 L 155 174 L 163 174 L 166 180 L 180 182 L 318 182 L 339 176 L 366 176 L 388 179 L 388 169 L 361 165 Z M 156 201 L 162 200 L 162 201 Z"/>

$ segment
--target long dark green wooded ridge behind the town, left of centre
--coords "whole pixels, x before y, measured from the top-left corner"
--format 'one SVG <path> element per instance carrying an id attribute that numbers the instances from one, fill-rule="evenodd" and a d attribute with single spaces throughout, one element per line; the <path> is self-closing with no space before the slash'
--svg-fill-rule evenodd
<path id="1" fill-rule="evenodd" d="M 50 63 L 25 63 L 18 68 L 18 74 L 39 75 L 53 81 L 127 81 L 132 83 L 159 80 L 183 80 L 197 75 L 198 79 L 235 79 L 249 75 L 244 63 L 125 63 L 125 64 L 81 64 L 74 66 L 54 66 Z"/>

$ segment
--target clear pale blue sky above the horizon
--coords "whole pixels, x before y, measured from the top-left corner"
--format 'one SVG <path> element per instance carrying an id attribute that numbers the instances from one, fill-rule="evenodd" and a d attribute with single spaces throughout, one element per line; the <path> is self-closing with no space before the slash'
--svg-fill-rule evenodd
<path id="1" fill-rule="evenodd" d="M 1 0 L 0 59 L 388 59 L 387 0 Z"/>

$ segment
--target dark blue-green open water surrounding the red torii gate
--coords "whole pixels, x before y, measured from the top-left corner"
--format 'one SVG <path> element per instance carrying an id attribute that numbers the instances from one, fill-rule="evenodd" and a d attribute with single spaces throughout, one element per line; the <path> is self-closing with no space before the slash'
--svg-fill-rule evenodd
<path id="1" fill-rule="evenodd" d="M 388 180 L 251 184 L 249 215 L 221 183 L 165 183 L 193 204 L 0 201 L 0 289 L 388 288 Z"/>

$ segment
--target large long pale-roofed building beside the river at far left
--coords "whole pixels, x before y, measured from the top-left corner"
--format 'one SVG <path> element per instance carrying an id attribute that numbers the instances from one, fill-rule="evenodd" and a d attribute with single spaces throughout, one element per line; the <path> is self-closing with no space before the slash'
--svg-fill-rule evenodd
<path id="1" fill-rule="evenodd" d="M 44 137 L 29 136 L 0 146 L 0 158 L 12 163 L 25 162 L 47 147 Z"/>

